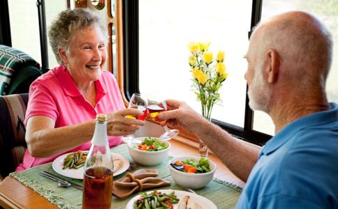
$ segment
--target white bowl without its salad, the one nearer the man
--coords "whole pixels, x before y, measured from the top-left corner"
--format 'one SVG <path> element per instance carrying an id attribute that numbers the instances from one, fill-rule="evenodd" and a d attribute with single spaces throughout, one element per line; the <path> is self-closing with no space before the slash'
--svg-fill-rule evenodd
<path id="1" fill-rule="evenodd" d="M 175 180 L 177 185 L 189 188 L 189 189 L 200 189 L 202 187 L 205 187 L 208 183 L 210 183 L 210 180 L 212 180 L 212 177 L 214 176 L 214 172 L 216 171 L 216 164 L 212 162 L 212 160 L 209 160 L 209 167 L 210 172 L 207 173 L 185 173 L 183 171 L 178 171 L 174 169 L 170 164 L 175 163 L 177 160 L 179 162 L 188 160 L 188 159 L 194 159 L 196 162 L 200 160 L 200 157 L 196 156 L 186 156 L 186 157 L 175 157 L 172 158 L 172 160 L 169 161 L 169 169 L 172 176 L 172 179 Z"/>

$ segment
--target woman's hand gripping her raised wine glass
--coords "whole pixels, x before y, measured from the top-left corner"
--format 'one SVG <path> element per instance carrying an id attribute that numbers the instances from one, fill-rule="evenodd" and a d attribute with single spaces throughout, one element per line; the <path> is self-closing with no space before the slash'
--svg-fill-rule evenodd
<path id="1" fill-rule="evenodd" d="M 122 109 L 108 114 L 107 134 L 108 136 L 125 136 L 134 134 L 140 125 L 145 125 L 145 121 L 140 121 L 126 116 L 142 116 L 143 112 L 137 109 Z"/>

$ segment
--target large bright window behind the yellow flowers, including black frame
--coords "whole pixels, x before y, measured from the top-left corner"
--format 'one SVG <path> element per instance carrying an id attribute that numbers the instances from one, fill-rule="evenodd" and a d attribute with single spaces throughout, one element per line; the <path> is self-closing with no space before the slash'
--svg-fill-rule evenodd
<path id="1" fill-rule="evenodd" d="M 226 52 L 230 72 L 220 94 L 222 106 L 214 106 L 212 118 L 230 133 L 262 144 L 270 135 L 252 130 L 247 104 L 248 31 L 260 17 L 260 1 L 185 0 L 124 1 L 126 96 L 154 91 L 186 101 L 200 112 L 191 91 L 187 45 L 211 42 L 210 51 Z"/>

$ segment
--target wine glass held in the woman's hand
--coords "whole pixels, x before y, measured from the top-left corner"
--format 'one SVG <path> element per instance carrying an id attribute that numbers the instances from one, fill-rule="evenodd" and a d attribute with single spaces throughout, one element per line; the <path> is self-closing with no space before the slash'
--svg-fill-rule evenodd
<path id="1" fill-rule="evenodd" d="M 131 96 L 131 100 L 129 100 L 128 108 L 138 109 L 143 112 L 141 116 L 126 116 L 126 118 L 138 118 L 138 120 L 145 121 L 147 118 L 147 98 L 144 95 L 140 95 L 139 93 L 133 93 Z M 126 143 L 132 144 L 141 144 L 142 141 L 135 139 L 133 135 L 129 135 L 122 139 Z"/>

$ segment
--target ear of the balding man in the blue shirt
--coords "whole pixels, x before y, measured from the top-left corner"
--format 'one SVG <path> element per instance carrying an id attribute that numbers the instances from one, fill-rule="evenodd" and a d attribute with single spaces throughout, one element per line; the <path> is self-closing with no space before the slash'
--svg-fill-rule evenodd
<path id="1" fill-rule="evenodd" d="M 267 82 L 269 84 L 277 82 L 279 73 L 279 55 L 274 49 L 267 51 Z"/>

